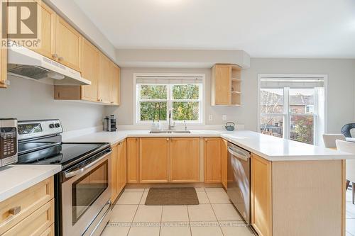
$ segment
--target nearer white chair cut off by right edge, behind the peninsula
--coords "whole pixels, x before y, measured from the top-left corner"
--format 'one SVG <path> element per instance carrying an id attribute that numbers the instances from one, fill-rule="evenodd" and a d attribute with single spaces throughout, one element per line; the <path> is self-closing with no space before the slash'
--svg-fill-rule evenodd
<path id="1" fill-rule="evenodd" d="M 343 140 L 337 140 L 337 150 L 342 152 L 349 152 L 355 154 L 355 142 L 346 142 Z M 353 189 L 353 204 L 355 199 L 355 159 L 346 160 L 346 190 L 352 182 Z"/>

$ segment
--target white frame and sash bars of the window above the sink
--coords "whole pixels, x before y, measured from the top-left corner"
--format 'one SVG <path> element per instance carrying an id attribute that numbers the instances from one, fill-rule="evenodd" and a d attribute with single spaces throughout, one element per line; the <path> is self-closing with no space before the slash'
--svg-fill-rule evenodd
<path id="1" fill-rule="evenodd" d="M 173 99 L 173 86 L 174 85 L 181 85 L 181 84 L 137 84 L 137 77 L 139 76 L 151 76 L 151 77 L 201 77 L 202 83 L 197 84 L 199 88 L 199 99 Z M 141 117 L 141 109 L 140 103 L 142 101 L 166 101 L 167 102 L 167 120 L 160 120 L 162 124 L 168 124 L 169 119 L 169 110 L 173 108 L 173 102 L 180 101 L 180 102 L 193 102 L 198 101 L 200 103 L 199 106 L 199 120 L 186 120 L 187 124 L 193 125 L 204 125 L 204 108 L 205 108 L 205 74 L 178 74 L 178 73 L 168 73 L 168 74 L 161 74 L 161 73 L 134 73 L 133 74 L 133 123 L 135 125 L 148 125 L 152 123 L 152 120 L 140 120 Z M 167 99 L 140 99 L 141 91 L 138 89 L 138 85 L 166 85 L 167 86 Z M 173 120 L 175 124 L 182 124 L 184 120 Z"/>

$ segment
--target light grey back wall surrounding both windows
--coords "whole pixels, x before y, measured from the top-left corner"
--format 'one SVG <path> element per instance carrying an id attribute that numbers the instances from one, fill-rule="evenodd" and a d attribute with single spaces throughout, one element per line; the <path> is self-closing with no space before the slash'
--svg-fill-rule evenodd
<path id="1" fill-rule="evenodd" d="M 257 129 L 258 112 L 258 74 L 328 74 L 327 132 L 337 133 L 345 123 L 355 118 L 354 88 L 355 60 L 327 59 L 268 59 L 252 58 L 251 67 L 242 72 L 242 106 L 214 107 L 210 106 L 210 69 L 153 69 L 122 68 L 121 69 L 121 106 L 107 107 L 106 114 L 118 116 L 120 125 L 133 124 L 133 73 L 171 72 L 171 73 L 204 73 L 206 74 L 206 124 L 223 124 L 222 115 L 228 120 L 244 124 L 248 130 Z M 212 114 L 212 122 L 208 116 Z"/>

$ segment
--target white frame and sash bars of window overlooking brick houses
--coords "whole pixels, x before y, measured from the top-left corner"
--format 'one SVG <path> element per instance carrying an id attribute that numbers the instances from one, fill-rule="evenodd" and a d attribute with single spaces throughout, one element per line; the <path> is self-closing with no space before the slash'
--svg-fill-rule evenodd
<path id="1" fill-rule="evenodd" d="M 288 87 L 280 87 L 283 89 L 283 113 L 261 113 L 260 109 L 260 99 L 261 99 L 261 79 L 268 78 L 278 78 L 278 79 L 323 79 L 324 81 L 324 133 L 327 133 L 327 75 L 326 74 L 258 74 L 258 132 L 260 132 L 260 119 L 262 115 L 269 116 L 283 116 L 283 138 L 290 140 L 290 131 L 291 131 L 291 119 L 293 116 L 313 116 L 314 120 L 314 128 L 313 128 L 313 137 L 314 143 L 313 145 L 320 144 L 320 136 L 322 134 L 319 133 L 320 127 L 318 126 L 318 115 L 317 114 L 317 106 L 319 105 L 317 101 L 317 89 L 315 89 L 315 104 L 313 107 L 313 113 L 290 113 L 290 103 L 289 103 L 289 89 Z"/>

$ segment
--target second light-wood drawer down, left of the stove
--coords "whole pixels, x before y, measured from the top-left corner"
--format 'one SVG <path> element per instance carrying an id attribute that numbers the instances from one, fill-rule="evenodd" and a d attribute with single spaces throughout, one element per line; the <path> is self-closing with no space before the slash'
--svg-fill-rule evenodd
<path id="1" fill-rule="evenodd" d="M 45 203 L 44 206 L 35 210 L 34 213 L 22 220 L 20 223 L 11 227 L 3 236 L 35 236 L 35 235 L 50 235 L 45 234 L 45 231 L 54 223 L 54 199 Z"/>

